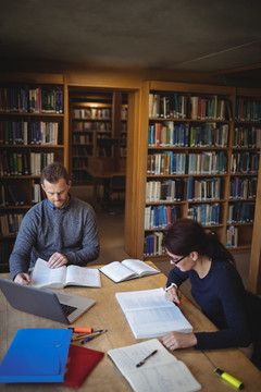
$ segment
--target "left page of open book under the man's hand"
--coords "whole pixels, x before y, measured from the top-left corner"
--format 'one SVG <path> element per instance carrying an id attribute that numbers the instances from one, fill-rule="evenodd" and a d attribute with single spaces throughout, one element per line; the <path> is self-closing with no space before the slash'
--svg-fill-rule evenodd
<path id="1" fill-rule="evenodd" d="M 32 273 L 32 284 L 36 287 L 62 289 L 65 284 L 66 267 L 49 268 L 47 261 L 38 258 Z"/>

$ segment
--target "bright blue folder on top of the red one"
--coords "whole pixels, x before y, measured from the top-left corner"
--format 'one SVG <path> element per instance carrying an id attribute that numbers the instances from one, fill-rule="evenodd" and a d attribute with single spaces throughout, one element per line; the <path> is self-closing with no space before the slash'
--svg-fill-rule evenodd
<path id="1" fill-rule="evenodd" d="M 0 382 L 63 382 L 73 330 L 21 329 L 1 365 Z"/>

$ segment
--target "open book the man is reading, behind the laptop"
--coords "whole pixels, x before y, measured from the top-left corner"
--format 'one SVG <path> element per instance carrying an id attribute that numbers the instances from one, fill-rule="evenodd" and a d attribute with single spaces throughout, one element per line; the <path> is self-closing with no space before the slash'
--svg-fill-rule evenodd
<path id="1" fill-rule="evenodd" d="M 100 287 L 100 272 L 98 268 L 79 266 L 62 266 L 49 268 L 47 261 L 38 258 L 32 273 L 32 284 L 37 287 L 62 289 L 66 285 Z"/>

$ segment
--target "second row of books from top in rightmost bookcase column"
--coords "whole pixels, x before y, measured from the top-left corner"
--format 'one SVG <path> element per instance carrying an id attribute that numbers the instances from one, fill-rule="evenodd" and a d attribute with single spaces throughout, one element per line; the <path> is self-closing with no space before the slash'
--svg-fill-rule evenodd
<path id="1" fill-rule="evenodd" d="M 233 135 L 233 147 L 261 148 L 261 127 L 236 126 Z"/>

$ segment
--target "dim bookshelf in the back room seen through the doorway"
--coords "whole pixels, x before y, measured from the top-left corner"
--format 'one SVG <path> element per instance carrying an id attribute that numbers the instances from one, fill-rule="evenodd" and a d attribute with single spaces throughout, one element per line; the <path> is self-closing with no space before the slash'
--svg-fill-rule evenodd
<path id="1" fill-rule="evenodd" d="M 125 176 L 128 110 L 125 96 L 121 91 L 77 87 L 70 93 L 72 179 L 74 185 L 94 185 L 94 201 L 109 201 L 105 199 L 113 192 L 114 175 Z"/>

